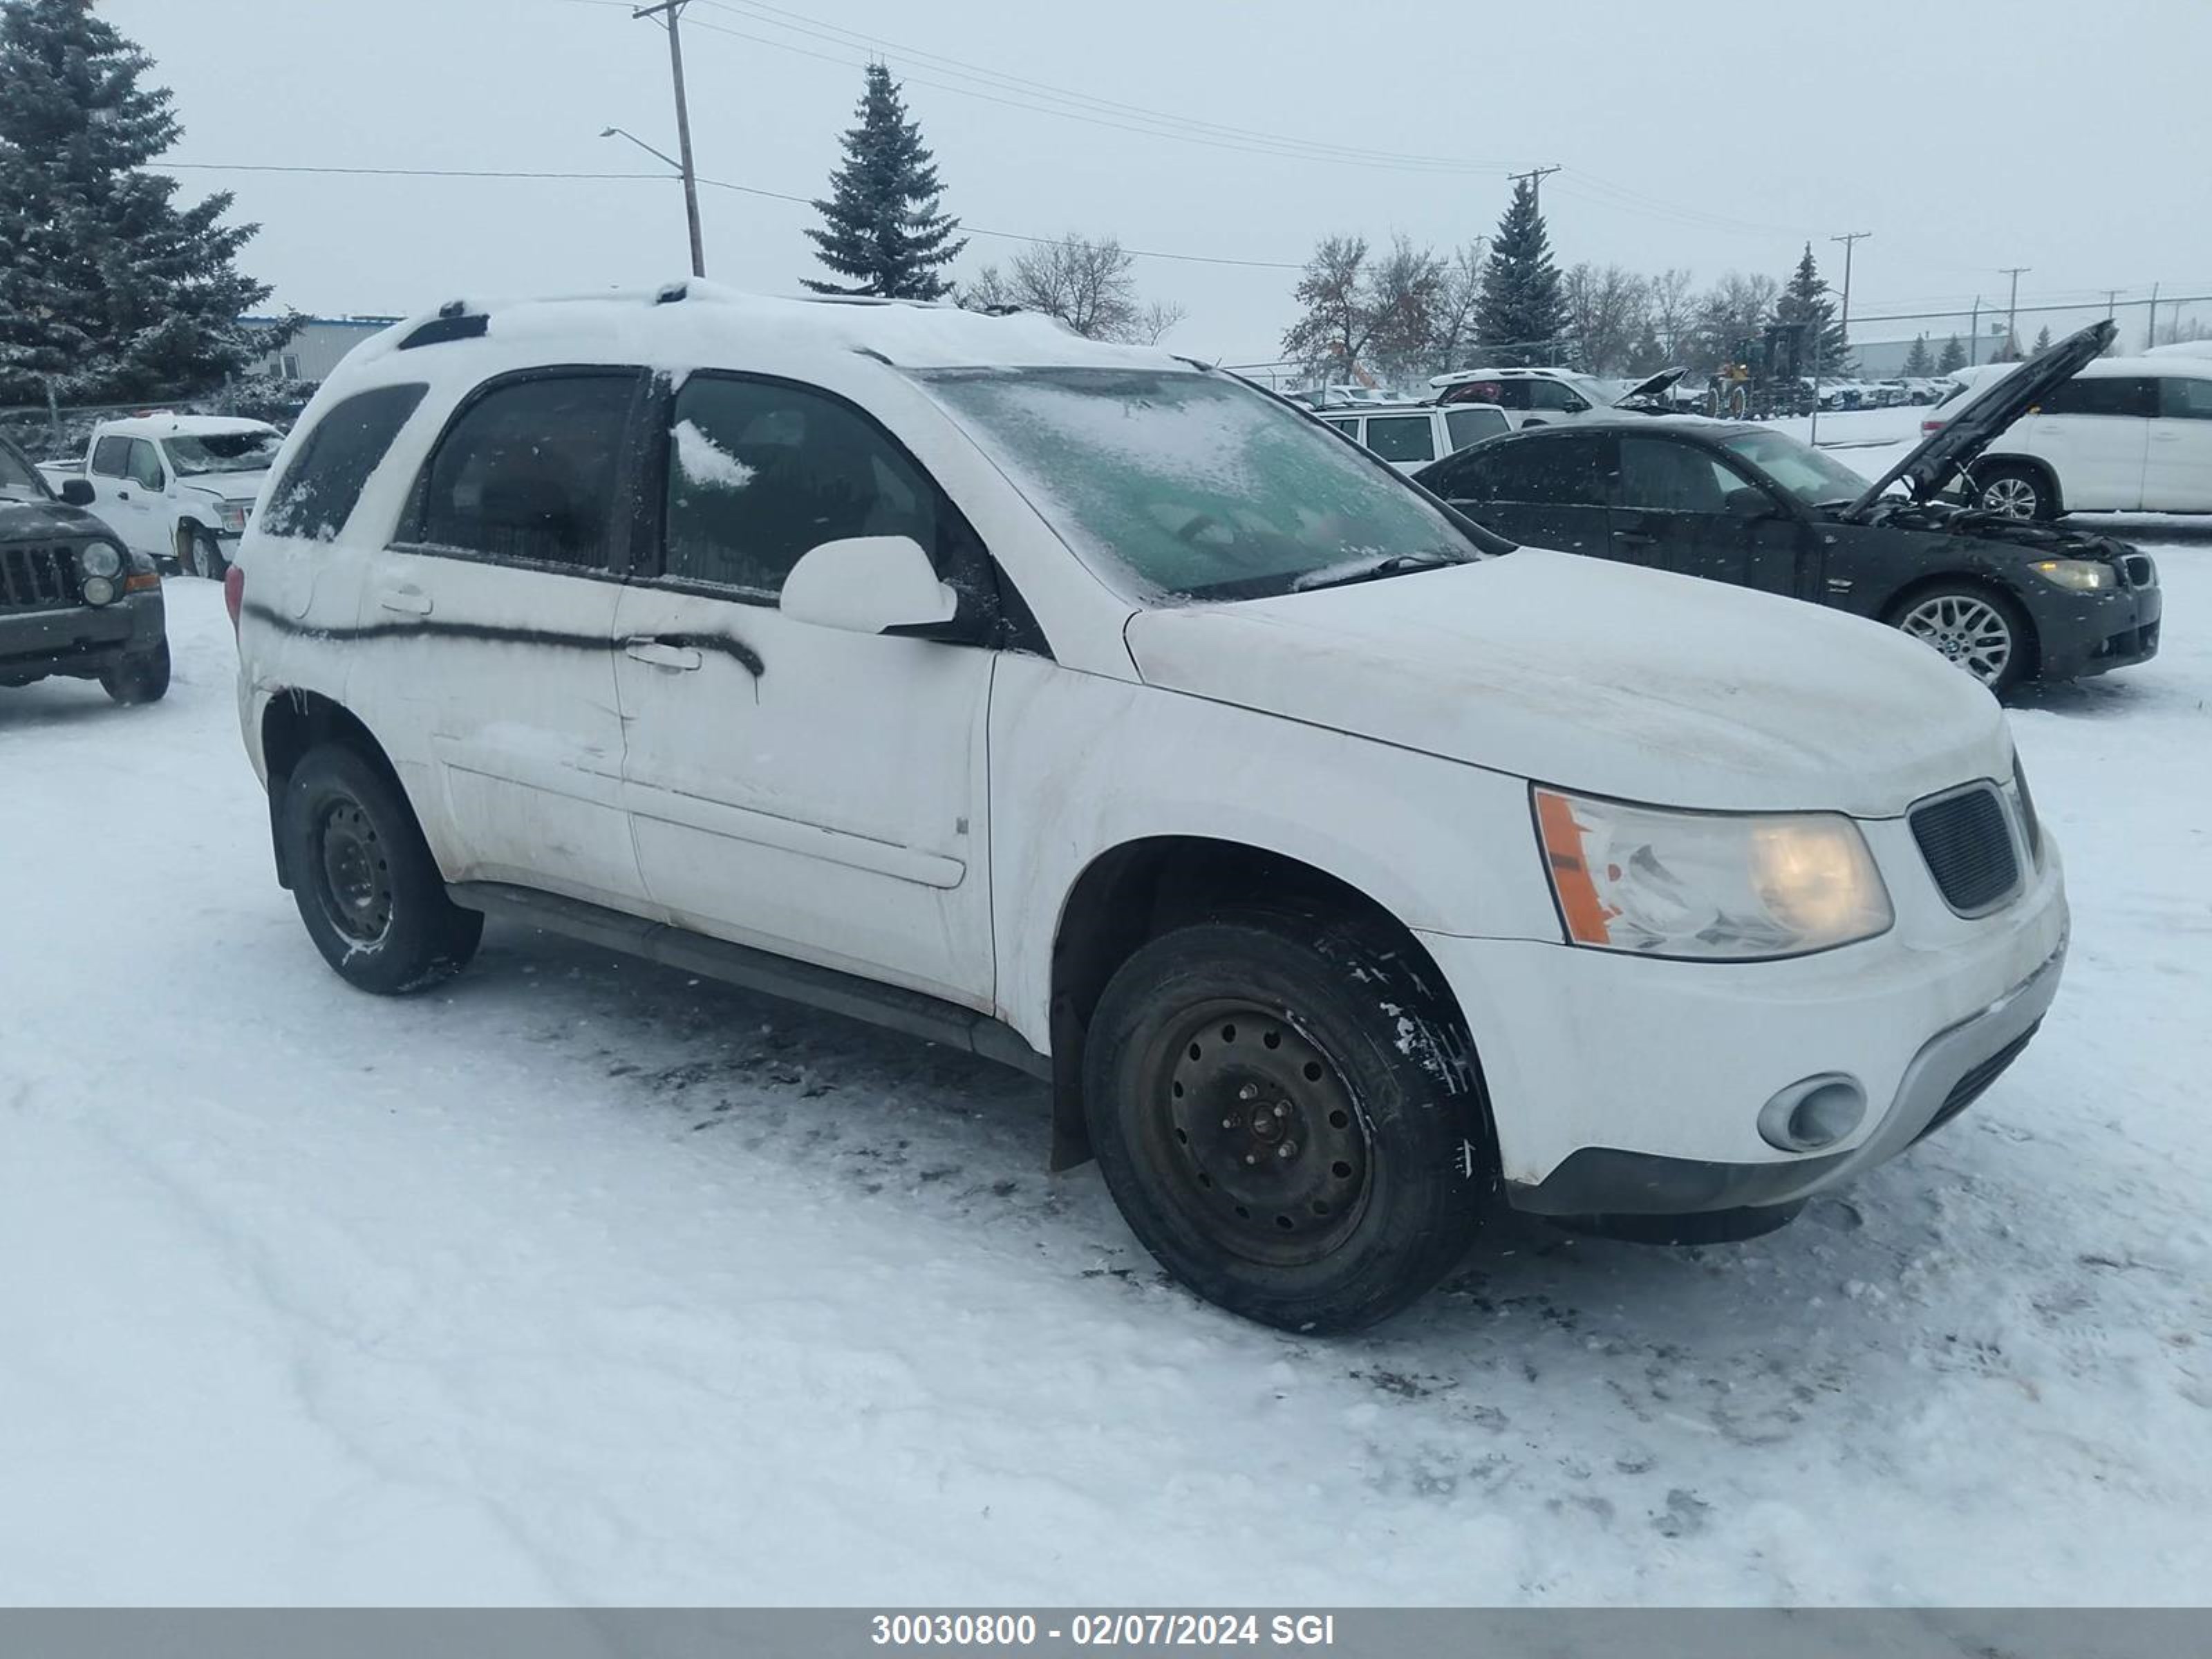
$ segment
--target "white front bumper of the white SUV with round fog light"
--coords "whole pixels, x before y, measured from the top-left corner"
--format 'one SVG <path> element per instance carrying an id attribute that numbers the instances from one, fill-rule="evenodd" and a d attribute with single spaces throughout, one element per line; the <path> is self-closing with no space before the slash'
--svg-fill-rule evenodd
<path id="1" fill-rule="evenodd" d="M 2011 1060 L 2057 989 L 2055 841 L 2004 909 L 1949 911 L 1902 818 L 1865 821 L 1898 920 L 1778 962 L 1672 962 L 1535 940 L 1422 933 L 1475 1037 L 1504 1190 L 1540 1214 L 1783 1206 L 1893 1157 Z M 2006 1053 L 2011 1051 L 2011 1053 Z M 2000 1066 L 2002 1068 L 2002 1066 Z M 1790 1152 L 1761 1108 L 1820 1075 L 1865 1113 Z"/>

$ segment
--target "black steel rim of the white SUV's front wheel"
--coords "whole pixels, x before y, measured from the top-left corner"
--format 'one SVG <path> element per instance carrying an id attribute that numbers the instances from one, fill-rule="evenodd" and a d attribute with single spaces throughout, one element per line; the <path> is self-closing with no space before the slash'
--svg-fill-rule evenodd
<path id="1" fill-rule="evenodd" d="M 1217 1000 L 1168 1020 L 1137 1082 L 1139 1155 L 1225 1254 L 1298 1267 L 1358 1228 L 1374 1148 L 1334 1060 L 1281 1009 Z"/>

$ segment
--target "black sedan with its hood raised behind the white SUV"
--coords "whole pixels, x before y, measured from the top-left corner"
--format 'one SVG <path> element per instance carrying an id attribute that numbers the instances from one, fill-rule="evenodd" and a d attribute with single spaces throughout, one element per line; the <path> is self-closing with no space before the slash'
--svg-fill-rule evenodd
<path id="1" fill-rule="evenodd" d="M 1515 542 L 1734 582 L 1874 617 L 2004 692 L 2157 655 L 2157 566 L 2093 531 L 1938 500 L 2039 389 L 2101 349 L 2099 323 L 1997 383 L 1876 484 L 1761 425 L 1584 420 L 1491 438 L 1413 473 Z M 1982 400 L 1978 400 L 1982 403 Z M 1975 418 L 1978 416 L 1978 418 Z M 1960 422 L 1966 422 L 1960 429 Z M 1907 493 L 1887 493 L 1902 482 Z"/>

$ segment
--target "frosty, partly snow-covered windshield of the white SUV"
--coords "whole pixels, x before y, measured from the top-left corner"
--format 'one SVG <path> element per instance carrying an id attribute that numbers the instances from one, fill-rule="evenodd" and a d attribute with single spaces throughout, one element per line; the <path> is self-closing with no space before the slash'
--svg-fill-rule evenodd
<path id="1" fill-rule="evenodd" d="M 1144 602 L 1254 599 L 1478 546 L 1387 467 L 1281 400 L 1183 369 L 918 376 L 1075 553 Z M 1504 544 L 1500 544 L 1502 549 Z"/>

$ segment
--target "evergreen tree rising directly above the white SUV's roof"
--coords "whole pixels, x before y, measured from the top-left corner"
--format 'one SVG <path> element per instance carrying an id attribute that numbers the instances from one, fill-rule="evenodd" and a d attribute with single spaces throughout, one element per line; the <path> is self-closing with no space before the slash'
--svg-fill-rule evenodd
<path id="1" fill-rule="evenodd" d="M 854 281 L 805 283 L 816 294 L 942 299 L 953 285 L 938 270 L 960 257 L 967 237 L 953 241 L 960 221 L 938 212 L 945 186 L 883 64 L 867 66 L 858 115 L 860 124 L 845 133 L 830 199 L 814 204 L 827 228 L 807 228 L 816 257 Z"/>

